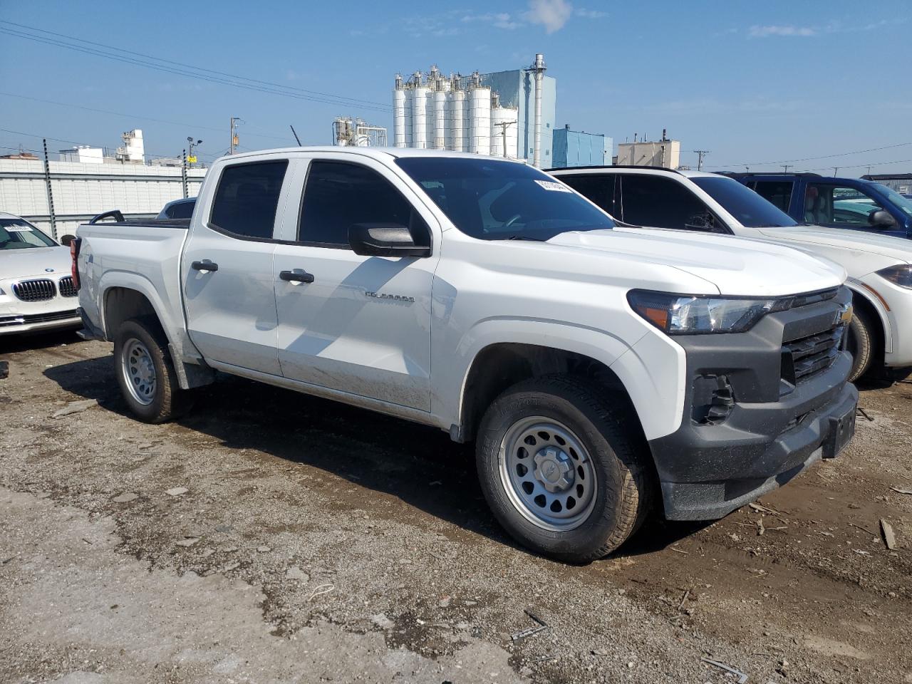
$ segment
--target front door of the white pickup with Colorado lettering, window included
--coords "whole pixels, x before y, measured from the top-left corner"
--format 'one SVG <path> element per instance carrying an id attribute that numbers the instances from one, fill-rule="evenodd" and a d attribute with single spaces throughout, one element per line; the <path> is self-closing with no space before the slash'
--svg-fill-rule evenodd
<path id="1" fill-rule="evenodd" d="M 419 244 L 430 228 L 412 202 L 365 158 L 311 161 L 294 207 L 294 244 L 275 248 L 278 358 L 286 378 L 430 410 L 430 257 L 359 256 L 354 223 L 409 226 Z M 292 202 L 286 216 L 292 213 Z M 428 214 L 430 220 L 432 215 Z M 424 242 L 427 241 L 427 242 Z"/>

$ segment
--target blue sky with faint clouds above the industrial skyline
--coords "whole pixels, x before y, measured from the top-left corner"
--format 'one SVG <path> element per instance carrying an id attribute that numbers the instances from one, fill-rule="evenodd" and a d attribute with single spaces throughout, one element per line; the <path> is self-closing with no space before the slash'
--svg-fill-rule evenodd
<path id="1" fill-rule="evenodd" d="M 544 52 L 557 78 L 558 126 L 606 133 L 616 143 L 634 133 L 654 140 L 667 128 L 682 141 L 682 162 L 696 163 L 690 150 L 710 150 L 710 169 L 771 171 L 781 164 L 761 162 L 814 158 L 793 167 L 832 174 L 839 166 L 840 175 L 853 176 L 869 163 L 874 172 L 910 171 L 910 10 L 890 0 L 0 0 L 0 21 L 268 81 L 275 86 L 265 88 L 297 96 L 0 33 L 0 146 L 37 149 L 34 135 L 43 135 L 58 139 L 49 140 L 52 150 L 67 146 L 59 140 L 115 147 L 121 131 L 141 128 L 153 154 L 180 153 L 192 135 L 211 160 L 228 147 L 231 116 L 244 119 L 242 149 L 294 144 L 289 124 L 303 142 L 325 144 L 337 115 L 391 129 L 397 71 L 432 63 L 444 72 L 496 71 Z M 3 23 L 0 30 L 74 42 Z M 307 99 L 327 95 L 331 102 Z M 855 150 L 872 151 L 843 154 Z"/>

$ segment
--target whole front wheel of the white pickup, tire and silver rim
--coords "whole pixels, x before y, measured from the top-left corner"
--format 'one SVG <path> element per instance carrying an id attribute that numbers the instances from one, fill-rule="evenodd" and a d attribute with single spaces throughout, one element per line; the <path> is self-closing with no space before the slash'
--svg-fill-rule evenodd
<path id="1" fill-rule="evenodd" d="M 648 509 L 648 453 L 622 412 L 583 378 L 534 378 L 482 419 L 478 472 L 494 516 L 521 544 L 587 563 L 636 532 Z"/>

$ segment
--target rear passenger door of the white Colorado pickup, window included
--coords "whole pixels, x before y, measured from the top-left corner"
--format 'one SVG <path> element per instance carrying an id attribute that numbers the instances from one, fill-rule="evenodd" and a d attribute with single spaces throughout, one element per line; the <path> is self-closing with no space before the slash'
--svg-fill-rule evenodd
<path id="1" fill-rule="evenodd" d="M 272 375 L 281 375 L 273 259 L 288 164 L 224 166 L 211 212 L 193 219 L 181 264 L 187 328 L 203 357 Z"/>

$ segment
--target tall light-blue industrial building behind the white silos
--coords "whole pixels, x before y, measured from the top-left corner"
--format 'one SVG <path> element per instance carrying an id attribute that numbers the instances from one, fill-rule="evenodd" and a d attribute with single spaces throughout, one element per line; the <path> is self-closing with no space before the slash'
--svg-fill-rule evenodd
<path id="1" fill-rule="evenodd" d="M 502 107 L 517 109 L 516 150 L 519 159 L 532 159 L 535 146 L 535 75 L 531 69 L 513 69 L 482 74 L 482 86 L 489 86 L 501 98 Z M 557 108 L 557 79 L 542 78 L 542 166 L 553 166 L 552 133 Z"/>

